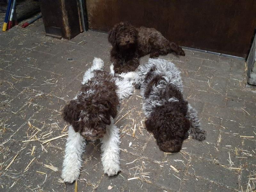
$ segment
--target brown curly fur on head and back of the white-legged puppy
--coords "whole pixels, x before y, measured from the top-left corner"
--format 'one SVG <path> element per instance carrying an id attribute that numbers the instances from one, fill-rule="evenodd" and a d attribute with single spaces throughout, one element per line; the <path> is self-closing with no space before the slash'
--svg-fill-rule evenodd
<path id="1" fill-rule="evenodd" d="M 102 138 L 110 117 L 115 118 L 117 113 L 116 88 L 108 72 L 95 70 L 94 77 L 82 85 L 77 99 L 64 107 L 64 120 L 87 140 Z"/>

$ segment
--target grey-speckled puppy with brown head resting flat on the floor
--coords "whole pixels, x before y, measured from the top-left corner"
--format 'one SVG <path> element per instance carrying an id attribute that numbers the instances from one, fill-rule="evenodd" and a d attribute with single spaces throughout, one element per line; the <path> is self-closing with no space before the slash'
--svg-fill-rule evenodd
<path id="1" fill-rule="evenodd" d="M 154 134 L 164 152 L 179 152 L 188 133 L 193 139 L 205 140 L 206 132 L 199 128 L 197 112 L 183 98 L 180 71 L 163 59 L 149 59 L 139 67 L 136 87 L 144 99 L 146 129 Z"/>

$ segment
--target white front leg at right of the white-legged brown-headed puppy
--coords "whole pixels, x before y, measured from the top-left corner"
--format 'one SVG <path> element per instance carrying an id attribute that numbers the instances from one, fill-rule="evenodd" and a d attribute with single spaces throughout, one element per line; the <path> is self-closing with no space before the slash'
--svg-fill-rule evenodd
<path id="1" fill-rule="evenodd" d="M 120 171 L 120 137 L 119 130 L 111 117 L 111 124 L 106 127 L 106 134 L 101 139 L 101 162 L 104 173 L 108 176 L 116 175 Z"/>

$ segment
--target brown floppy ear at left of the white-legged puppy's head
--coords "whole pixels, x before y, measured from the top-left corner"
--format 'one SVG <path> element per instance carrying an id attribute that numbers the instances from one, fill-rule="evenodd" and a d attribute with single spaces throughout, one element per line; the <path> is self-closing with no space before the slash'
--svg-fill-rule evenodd
<path id="1" fill-rule="evenodd" d="M 66 105 L 62 112 L 63 119 L 71 124 L 74 130 L 77 132 L 79 128 L 76 127 L 76 121 L 79 120 L 79 115 L 82 110 L 82 105 L 77 100 L 71 100 Z"/>

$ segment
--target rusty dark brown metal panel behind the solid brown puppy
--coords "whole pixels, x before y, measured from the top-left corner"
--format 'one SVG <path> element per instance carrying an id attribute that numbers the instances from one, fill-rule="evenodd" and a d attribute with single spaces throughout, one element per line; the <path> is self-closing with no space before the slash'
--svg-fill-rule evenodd
<path id="1" fill-rule="evenodd" d="M 85 0 L 89 28 L 153 27 L 182 46 L 246 57 L 256 27 L 255 0 Z"/>

